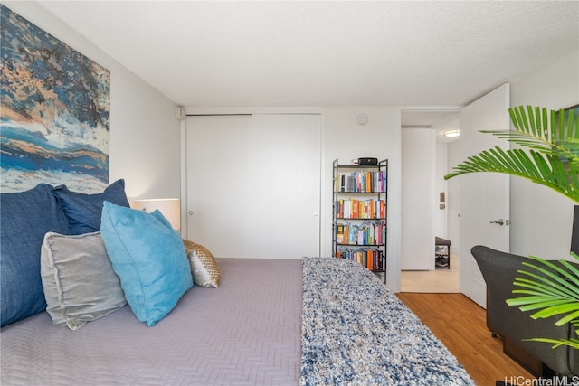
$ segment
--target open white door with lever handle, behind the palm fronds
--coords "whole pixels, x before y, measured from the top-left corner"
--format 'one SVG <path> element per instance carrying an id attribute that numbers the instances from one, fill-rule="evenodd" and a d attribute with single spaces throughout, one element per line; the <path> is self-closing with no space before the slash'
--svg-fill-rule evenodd
<path id="1" fill-rule="evenodd" d="M 508 149 L 508 141 L 480 130 L 509 129 L 508 84 L 475 100 L 460 111 L 460 159 L 494 146 Z M 460 179 L 460 290 L 486 307 L 486 287 L 470 254 L 475 245 L 508 252 L 508 174 L 474 173 Z M 502 224 L 501 224 L 502 222 Z"/>

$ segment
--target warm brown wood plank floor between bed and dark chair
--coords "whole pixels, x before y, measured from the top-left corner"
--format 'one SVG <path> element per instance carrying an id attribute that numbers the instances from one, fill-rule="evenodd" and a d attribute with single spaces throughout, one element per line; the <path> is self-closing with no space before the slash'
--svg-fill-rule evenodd
<path id="1" fill-rule="evenodd" d="M 486 325 L 486 311 L 462 294 L 397 294 L 428 325 L 479 386 L 530 380 L 531 373 L 502 352 Z M 522 378 L 517 378 L 522 377 Z"/>

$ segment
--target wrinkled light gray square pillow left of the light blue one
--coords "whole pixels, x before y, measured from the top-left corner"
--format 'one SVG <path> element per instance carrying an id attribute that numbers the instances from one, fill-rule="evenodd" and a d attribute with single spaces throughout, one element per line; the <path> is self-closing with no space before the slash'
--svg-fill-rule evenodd
<path id="1" fill-rule="evenodd" d="M 41 251 L 46 311 L 54 325 L 77 330 L 127 304 L 100 232 L 48 232 Z"/>

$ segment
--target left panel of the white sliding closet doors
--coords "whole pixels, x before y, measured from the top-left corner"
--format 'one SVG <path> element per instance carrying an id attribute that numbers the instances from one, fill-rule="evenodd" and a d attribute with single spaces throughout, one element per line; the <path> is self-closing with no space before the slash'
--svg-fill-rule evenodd
<path id="1" fill-rule="evenodd" d="M 249 257 L 252 116 L 187 117 L 187 239 Z"/>

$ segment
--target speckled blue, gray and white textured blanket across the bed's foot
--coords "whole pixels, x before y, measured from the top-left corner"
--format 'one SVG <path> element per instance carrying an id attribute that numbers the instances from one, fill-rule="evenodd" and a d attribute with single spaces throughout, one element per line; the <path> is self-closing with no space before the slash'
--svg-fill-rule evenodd
<path id="1" fill-rule="evenodd" d="M 456 358 L 356 262 L 305 258 L 302 385 L 473 385 Z"/>

